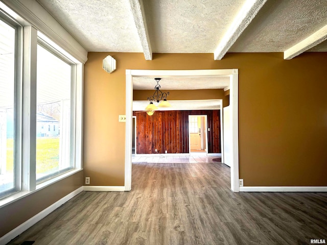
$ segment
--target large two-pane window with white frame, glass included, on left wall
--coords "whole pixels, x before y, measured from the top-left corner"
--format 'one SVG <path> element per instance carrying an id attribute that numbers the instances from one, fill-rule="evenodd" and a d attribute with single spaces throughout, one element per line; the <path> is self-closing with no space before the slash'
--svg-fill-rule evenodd
<path id="1" fill-rule="evenodd" d="M 82 167 L 86 56 L 29 22 L 0 1 L 0 207 Z"/>

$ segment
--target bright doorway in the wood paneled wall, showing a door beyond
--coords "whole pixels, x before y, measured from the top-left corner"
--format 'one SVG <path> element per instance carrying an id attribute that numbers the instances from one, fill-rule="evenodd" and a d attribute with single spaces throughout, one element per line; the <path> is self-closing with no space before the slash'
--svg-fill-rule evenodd
<path id="1" fill-rule="evenodd" d="M 208 153 L 207 115 L 189 115 L 190 156 L 206 156 Z"/>

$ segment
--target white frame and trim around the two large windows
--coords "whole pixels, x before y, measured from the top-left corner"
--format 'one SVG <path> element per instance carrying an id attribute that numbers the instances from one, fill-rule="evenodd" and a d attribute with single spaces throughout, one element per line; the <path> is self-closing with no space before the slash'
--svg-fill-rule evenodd
<path id="1" fill-rule="evenodd" d="M 22 6 L 24 6 L 24 8 Z M 24 81 L 24 83 L 20 83 L 20 87 L 18 86 L 16 91 L 21 94 L 21 97 L 17 98 L 17 100 L 20 100 L 19 103 L 24 99 L 24 104 L 17 103 L 17 106 L 20 106 L 20 108 L 17 108 L 17 111 L 21 113 L 16 120 L 16 125 L 20 125 L 20 128 L 18 127 L 16 130 L 16 134 L 21 136 L 19 137 L 20 141 L 18 142 L 17 140 L 19 148 L 17 148 L 16 151 L 17 159 L 21 159 L 21 169 L 19 169 L 19 173 L 21 173 L 21 179 L 19 180 L 21 191 L 0 199 L 1 208 L 83 170 L 83 72 L 84 63 L 87 60 L 87 51 L 37 3 L 35 3 L 35 5 L 29 5 L 27 2 L 18 3 L 16 1 L 5 0 L 0 2 L 0 11 L 3 11 L 6 15 L 11 16 L 11 19 L 21 24 L 22 28 L 20 33 L 23 37 L 22 40 L 24 40 L 19 47 L 21 53 L 18 58 L 21 60 L 21 66 L 20 68 L 17 66 L 16 70 L 17 81 Z M 31 15 L 30 13 L 37 13 L 38 18 L 35 18 L 35 15 Z M 72 113 L 75 114 L 75 130 L 72 133 L 76 136 L 74 139 L 74 148 L 71 152 L 73 155 L 71 159 L 75 159 L 75 169 L 40 184 L 36 184 L 35 171 L 36 49 L 38 38 L 41 38 L 75 64 L 72 69 L 72 79 L 74 79 L 76 86 L 74 110 L 72 110 Z M 24 134 L 22 134 L 23 131 Z M 22 145 L 24 145 L 24 147 L 22 147 Z"/>

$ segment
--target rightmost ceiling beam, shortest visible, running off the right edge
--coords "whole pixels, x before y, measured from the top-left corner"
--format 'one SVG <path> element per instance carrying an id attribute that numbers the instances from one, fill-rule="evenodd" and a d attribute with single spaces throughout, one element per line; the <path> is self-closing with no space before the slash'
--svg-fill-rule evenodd
<path id="1" fill-rule="evenodd" d="M 327 25 L 285 51 L 284 60 L 290 60 L 325 40 L 327 40 Z"/>

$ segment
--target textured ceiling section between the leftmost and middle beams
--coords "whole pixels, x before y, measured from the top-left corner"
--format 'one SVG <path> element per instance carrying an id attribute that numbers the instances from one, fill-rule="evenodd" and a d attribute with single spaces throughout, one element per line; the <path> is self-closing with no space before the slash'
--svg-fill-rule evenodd
<path id="1" fill-rule="evenodd" d="M 143 3 L 153 53 L 214 53 L 244 0 Z"/>

